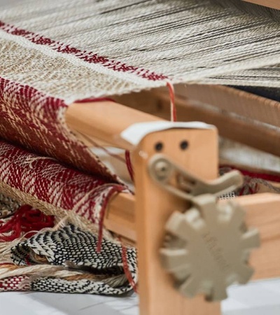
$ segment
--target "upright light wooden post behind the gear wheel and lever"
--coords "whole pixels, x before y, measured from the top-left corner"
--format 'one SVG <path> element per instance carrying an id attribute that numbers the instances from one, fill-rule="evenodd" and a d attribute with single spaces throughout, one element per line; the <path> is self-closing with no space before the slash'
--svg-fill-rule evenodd
<path id="1" fill-rule="evenodd" d="M 185 150 L 181 149 L 182 141 L 188 141 Z M 144 137 L 134 151 L 140 314 L 221 314 L 219 303 L 205 302 L 202 296 L 188 300 L 178 293 L 171 276 L 160 265 L 159 248 L 165 237 L 165 223 L 172 211 L 186 210 L 186 203 L 162 190 L 149 176 L 148 160 L 155 153 L 164 153 L 203 179 L 215 179 L 218 175 L 217 132 L 194 129 L 154 132 Z"/>

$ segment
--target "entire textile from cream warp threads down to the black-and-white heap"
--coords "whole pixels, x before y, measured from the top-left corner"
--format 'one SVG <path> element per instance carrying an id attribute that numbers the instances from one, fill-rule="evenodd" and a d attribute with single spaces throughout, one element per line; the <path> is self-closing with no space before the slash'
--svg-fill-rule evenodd
<path id="1" fill-rule="evenodd" d="M 167 83 L 279 87 L 278 20 L 239 0 L 1 0 L 0 290 L 135 289 L 135 248 L 102 228 L 130 191 L 67 107 Z"/>

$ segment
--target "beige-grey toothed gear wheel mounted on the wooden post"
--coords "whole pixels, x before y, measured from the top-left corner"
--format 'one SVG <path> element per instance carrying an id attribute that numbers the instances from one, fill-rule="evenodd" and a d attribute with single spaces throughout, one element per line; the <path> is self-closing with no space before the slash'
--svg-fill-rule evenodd
<path id="1" fill-rule="evenodd" d="M 244 216 L 239 204 L 217 204 L 210 194 L 193 198 L 185 213 L 172 214 L 160 256 L 183 295 L 204 293 L 209 301 L 223 300 L 230 284 L 251 279 L 248 257 L 260 238 L 258 230 L 246 228 Z"/>

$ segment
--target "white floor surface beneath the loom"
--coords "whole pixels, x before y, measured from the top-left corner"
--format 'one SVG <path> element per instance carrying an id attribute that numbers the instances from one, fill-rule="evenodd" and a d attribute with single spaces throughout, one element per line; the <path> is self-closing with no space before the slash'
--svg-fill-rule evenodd
<path id="1" fill-rule="evenodd" d="M 223 315 L 279 315 L 280 280 L 232 286 Z M 1 293 L 0 315 L 138 315 L 138 299 L 53 293 Z M 190 314 L 191 315 L 191 314 Z M 205 314 L 208 315 L 208 314 Z"/>

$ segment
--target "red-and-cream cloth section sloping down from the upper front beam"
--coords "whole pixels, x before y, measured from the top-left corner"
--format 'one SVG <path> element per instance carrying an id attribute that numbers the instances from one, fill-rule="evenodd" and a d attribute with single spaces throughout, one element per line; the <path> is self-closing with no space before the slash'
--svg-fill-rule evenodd
<path id="1" fill-rule="evenodd" d="M 1 72 L 1 71 L 0 71 Z M 66 105 L 27 85 L 0 78 L 0 137 L 90 174 L 117 182 L 66 127 Z"/>

